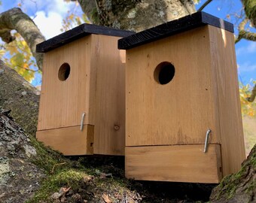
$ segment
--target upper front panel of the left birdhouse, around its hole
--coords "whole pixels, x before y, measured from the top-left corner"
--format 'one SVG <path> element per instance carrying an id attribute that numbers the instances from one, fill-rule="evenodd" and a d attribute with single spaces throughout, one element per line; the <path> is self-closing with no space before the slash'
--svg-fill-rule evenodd
<path id="1" fill-rule="evenodd" d="M 78 126 L 83 113 L 84 123 L 93 124 L 93 109 L 89 104 L 90 38 L 81 38 L 44 54 L 38 130 Z M 63 63 L 70 65 L 70 74 L 62 81 L 58 74 Z"/>

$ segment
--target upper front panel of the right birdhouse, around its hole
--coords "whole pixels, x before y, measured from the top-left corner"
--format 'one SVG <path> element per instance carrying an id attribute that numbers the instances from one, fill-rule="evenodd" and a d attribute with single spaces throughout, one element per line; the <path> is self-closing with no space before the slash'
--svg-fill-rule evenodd
<path id="1" fill-rule="evenodd" d="M 170 62 L 175 75 L 157 83 Z M 126 146 L 220 143 L 207 26 L 126 50 Z"/>

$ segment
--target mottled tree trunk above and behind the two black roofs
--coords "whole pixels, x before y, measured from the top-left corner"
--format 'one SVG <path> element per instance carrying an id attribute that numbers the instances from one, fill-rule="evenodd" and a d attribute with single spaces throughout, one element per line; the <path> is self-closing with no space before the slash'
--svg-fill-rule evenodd
<path id="1" fill-rule="evenodd" d="M 93 23 L 135 32 L 196 12 L 192 0 L 99 0 L 94 2 L 78 0 L 78 2 Z"/>

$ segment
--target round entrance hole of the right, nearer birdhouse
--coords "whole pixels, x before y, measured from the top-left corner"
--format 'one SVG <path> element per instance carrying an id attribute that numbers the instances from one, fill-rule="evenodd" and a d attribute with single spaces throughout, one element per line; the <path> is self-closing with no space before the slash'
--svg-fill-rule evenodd
<path id="1" fill-rule="evenodd" d="M 169 83 L 175 74 L 175 68 L 170 62 L 160 62 L 154 69 L 154 80 L 162 85 Z"/>

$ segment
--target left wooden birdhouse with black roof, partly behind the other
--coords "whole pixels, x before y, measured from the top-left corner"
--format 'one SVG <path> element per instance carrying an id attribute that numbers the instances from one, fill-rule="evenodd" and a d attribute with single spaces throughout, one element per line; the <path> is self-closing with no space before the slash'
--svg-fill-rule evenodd
<path id="1" fill-rule="evenodd" d="M 39 141 L 64 155 L 124 154 L 125 54 L 117 40 L 133 33 L 83 24 L 37 45 Z"/>

